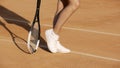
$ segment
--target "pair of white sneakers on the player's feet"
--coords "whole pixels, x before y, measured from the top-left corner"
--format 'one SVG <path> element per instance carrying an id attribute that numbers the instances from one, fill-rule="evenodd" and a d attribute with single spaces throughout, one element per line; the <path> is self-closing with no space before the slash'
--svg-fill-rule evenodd
<path id="1" fill-rule="evenodd" d="M 46 30 L 45 32 L 47 46 L 52 53 L 70 53 L 71 51 L 60 44 L 58 41 L 59 36 L 54 33 L 53 29 Z"/>

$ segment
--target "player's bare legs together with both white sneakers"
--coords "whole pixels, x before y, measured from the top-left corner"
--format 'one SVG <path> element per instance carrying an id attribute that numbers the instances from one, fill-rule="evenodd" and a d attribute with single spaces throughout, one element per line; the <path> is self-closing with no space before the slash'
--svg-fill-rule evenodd
<path id="1" fill-rule="evenodd" d="M 58 0 L 53 29 L 46 30 L 46 40 L 48 49 L 52 53 L 69 53 L 70 50 L 62 46 L 59 42 L 59 35 L 62 26 L 72 13 L 78 8 L 79 0 Z"/>

